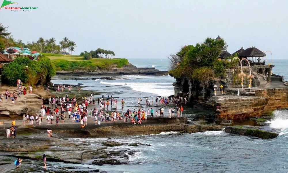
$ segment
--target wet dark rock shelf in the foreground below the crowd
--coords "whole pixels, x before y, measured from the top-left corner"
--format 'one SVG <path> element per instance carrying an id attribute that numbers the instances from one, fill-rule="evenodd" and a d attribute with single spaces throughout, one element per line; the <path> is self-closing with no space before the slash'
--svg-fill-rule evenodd
<path id="1" fill-rule="evenodd" d="M 53 137 L 48 138 L 46 129 L 52 128 Z M 42 155 L 46 153 L 48 166 L 57 165 L 56 172 L 101 172 L 95 168 L 81 168 L 77 164 L 90 164 L 95 166 L 130 164 L 128 159 L 137 153 L 137 147 L 149 147 L 152 144 L 143 144 L 133 140 L 117 142 L 117 137 L 160 134 L 162 132 L 197 133 L 204 131 L 225 131 L 227 133 L 249 135 L 262 139 L 271 139 L 277 133 L 262 131 L 252 126 L 224 127 L 216 124 L 201 124 L 196 121 L 187 121 L 186 118 L 149 118 L 143 125 L 114 122 L 94 125 L 88 123 L 85 128 L 80 128 L 77 123 L 56 125 L 20 125 L 17 128 L 15 139 L 0 140 L 0 169 L 9 170 L 11 158 L 25 159 L 26 163 L 42 164 Z M 5 133 L 5 129 L 0 129 Z M 89 140 L 86 140 L 89 138 Z M 9 160 L 10 159 L 10 160 Z M 70 165 L 72 164 L 72 165 Z M 74 165 L 76 164 L 76 165 Z M 10 166 L 9 166 L 10 165 Z M 29 164 L 25 164 L 29 168 Z M 27 168 L 27 169 L 28 169 Z M 26 169 L 26 168 L 25 168 Z M 41 171 L 41 167 L 29 168 L 31 171 Z"/>

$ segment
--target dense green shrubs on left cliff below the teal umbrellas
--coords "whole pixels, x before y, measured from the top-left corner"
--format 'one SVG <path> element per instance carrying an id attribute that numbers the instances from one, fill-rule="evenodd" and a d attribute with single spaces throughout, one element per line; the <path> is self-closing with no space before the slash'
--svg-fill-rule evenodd
<path id="1" fill-rule="evenodd" d="M 56 74 L 50 59 L 43 57 L 38 61 L 30 61 L 27 57 L 18 57 L 4 66 L 2 81 L 8 85 L 16 85 L 17 79 L 24 84 L 45 84 Z"/>

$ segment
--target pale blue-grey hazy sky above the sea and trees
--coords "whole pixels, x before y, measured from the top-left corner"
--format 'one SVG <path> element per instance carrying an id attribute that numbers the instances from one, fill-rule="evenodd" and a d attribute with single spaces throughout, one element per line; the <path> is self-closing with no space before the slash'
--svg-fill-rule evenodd
<path id="1" fill-rule="evenodd" d="M 3 0 L 0 0 L 2 3 Z M 243 46 L 287 59 L 286 0 L 10 0 L 0 22 L 15 40 L 73 40 L 73 54 L 102 48 L 119 58 L 165 59 L 188 44 L 220 35 L 233 53 Z M 270 59 L 270 53 L 266 53 Z"/>

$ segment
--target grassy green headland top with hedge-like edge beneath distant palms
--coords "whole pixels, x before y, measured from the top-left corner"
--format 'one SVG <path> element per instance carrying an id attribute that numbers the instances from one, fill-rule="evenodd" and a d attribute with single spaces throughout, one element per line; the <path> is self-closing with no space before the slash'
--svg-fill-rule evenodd
<path id="1" fill-rule="evenodd" d="M 128 65 L 127 59 L 103 59 L 103 58 L 93 58 L 90 60 L 85 60 L 82 56 L 48 56 L 55 65 L 57 71 L 88 71 L 94 72 L 97 70 L 111 70 L 115 67 L 123 67 Z"/>

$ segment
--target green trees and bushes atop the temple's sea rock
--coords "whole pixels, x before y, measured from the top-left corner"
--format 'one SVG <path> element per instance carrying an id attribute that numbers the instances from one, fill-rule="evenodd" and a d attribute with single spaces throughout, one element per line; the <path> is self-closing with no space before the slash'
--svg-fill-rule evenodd
<path id="1" fill-rule="evenodd" d="M 223 39 L 206 38 L 203 43 L 188 45 L 176 54 L 171 54 L 171 69 L 169 74 L 175 78 L 187 77 L 198 80 L 202 86 L 207 86 L 211 80 L 223 77 L 225 68 L 231 66 L 229 61 L 219 60 L 219 55 L 226 50 Z"/>

